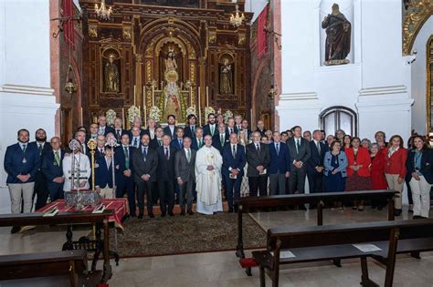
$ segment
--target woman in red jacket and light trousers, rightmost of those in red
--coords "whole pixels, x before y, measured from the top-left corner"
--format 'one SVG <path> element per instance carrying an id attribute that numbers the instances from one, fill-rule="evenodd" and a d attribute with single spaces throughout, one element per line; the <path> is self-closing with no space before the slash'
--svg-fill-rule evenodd
<path id="1" fill-rule="evenodd" d="M 401 193 L 407 173 L 407 149 L 403 148 L 403 138 L 392 136 L 385 153 L 385 178 L 390 190 L 396 190 L 396 216 L 401 215 Z"/>

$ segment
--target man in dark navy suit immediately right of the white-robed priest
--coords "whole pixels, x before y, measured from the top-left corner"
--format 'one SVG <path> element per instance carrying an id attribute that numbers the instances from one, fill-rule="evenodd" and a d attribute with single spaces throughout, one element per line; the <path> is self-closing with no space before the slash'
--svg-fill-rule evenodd
<path id="1" fill-rule="evenodd" d="M 238 144 L 238 136 L 235 133 L 230 134 L 229 143 L 223 149 L 223 167 L 221 173 L 223 180 L 226 181 L 226 195 L 228 203 L 228 212 L 233 212 L 233 199 L 240 197 L 240 184 L 244 176 L 244 167 L 246 163 L 245 149 Z M 233 197 L 233 195 L 235 195 Z M 235 206 L 235 212 L 238 207 Z"/>

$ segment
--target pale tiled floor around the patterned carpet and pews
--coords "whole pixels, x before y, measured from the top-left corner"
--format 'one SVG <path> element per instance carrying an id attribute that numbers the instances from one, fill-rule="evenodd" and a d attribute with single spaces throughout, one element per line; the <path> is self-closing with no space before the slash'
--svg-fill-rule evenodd
<path id="1" fill-rule="evenodd" d="M 316 220 L 312 211 L 278 211 L 254 213 L 254 218 L 264 228 L 293 224 L 313 225 Z M 404 217 L 407 218 L 407 210 Z M 356 210 L 324 210 L 324 224 L 336 222 L 386 220 L 386 210 L 367 208 Z M 88 231 L 76 231 L 84 235 Z M 192 234 L 194 236 L 194 234 Z M 236 236 L 234 234 L 234 236 Z M 20 253 L 32 251 L 57 251 L 65 239 L 61 229 L 39 229 L 25 234 L 9 234 L 9 229 L 0 229 L 0 252 Z M 249 251 L 247 251 L 247 256 Z M 110 286 L 259 286 L 259 272 L 253 270 L 248 277 L 240 269 L 234 251 L 174 255 L 152 258 L 122 259 L 119 266 L 113 266 Z M 399 255 L 396 262 L 394 286 L 433 286 L 433 252 L 422 254 L 422 260 Z M 385 270 L 375 261 L 369 261 L 370 277 L 383 285 Z M 361 269 L 359 261 L 343 261 L 337 268 L 331 262 L 293 264 L 280 272 L 280 286 L 359 286 Z M 0 286 L 67 286 L 63 278 L 54 278 L 50 284 L 42 280 L 0 282 Z M 270 281 L 268 280 L 270 285 Z"/>

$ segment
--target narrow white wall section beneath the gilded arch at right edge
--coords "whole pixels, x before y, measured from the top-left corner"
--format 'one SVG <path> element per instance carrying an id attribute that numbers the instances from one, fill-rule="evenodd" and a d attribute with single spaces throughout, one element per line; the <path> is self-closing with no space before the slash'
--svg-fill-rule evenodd
<path id="1" fill-rule="evenodd" d="M 412 98 L 415 100 L 412 107 L 412 128 L 418 133 L 426 133 L 426 96 L 427 96 L 427 42 L 428 38 L 433 35 L 433 16 L 421 27 L 413 46 L 417 50 L 417 59 L 412 64 Z"/>

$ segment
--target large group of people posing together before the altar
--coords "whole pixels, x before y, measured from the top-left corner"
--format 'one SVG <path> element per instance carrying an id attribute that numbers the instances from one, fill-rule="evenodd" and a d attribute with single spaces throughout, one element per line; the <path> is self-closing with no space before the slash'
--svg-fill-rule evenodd
<path id="1" fill-rule="evenodd" d="M 163 217 L 174 216 L 175 202 L 181 215 L 194 214 L 194 201 L 197 212 L 213 214 L 223 210 L 224 190 L 232 212 L 237 210 L 234 199 L 241 190 L 242 196 L 304 193 L 306 180 L 311 193 L 396 190 L 396 215 L 401 214 L 406 180 L 414 218 L 428 217 L 433 156 L 424 137 L 411 137 L 405 149 L 400 136 L 391 137 L 388 144 L 382 131 L 371 143 L 343 130 L 328 136 L 323 130 L 302 133 L 299 126 L 282 132 L 266 130 L 263 121 L 252 131 L 240 115 L 226 122 L 222 115 L 209 114 L 204 127 L 196 124 L 195 115 L 187 117 L 184 128 L 175 122 L 170 115 L 163 128 L 150 118 L 144 129 L 141 118 L 135 118 L 126 130 L 121 118 L 110 127 L 100 116 L 89 131 L 77 129 L 72 149 L 62 149 L 58 137 L 48 143 L 41 128 L 36 140 L 29 142 L 28 131 L 20 129 L 18 142 L 5 153 L 12 213 L 30 212 L 35 198 L 38 210 L 48 197 L 53 201 L 63 198 L 65 191 L 89 190 L 88 142 L 94 139 L 95 190 L 102 198 L 121 198 L 126 193 L 130 215 L 137 216 L 138 205 L 140 219 L 145 202 L 151 218 L 158 200 Z M 384 205 L 372 204 L 378 209 Z M 364 202 L 354 202 L 354 209 L 364 210 Z"/>

